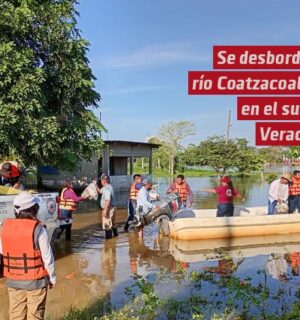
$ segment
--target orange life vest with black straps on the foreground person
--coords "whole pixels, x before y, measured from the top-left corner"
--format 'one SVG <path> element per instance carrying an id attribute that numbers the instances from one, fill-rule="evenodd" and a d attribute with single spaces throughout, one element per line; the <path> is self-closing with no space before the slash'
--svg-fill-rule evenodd
<path id="1" fill-rule="evenodd" d="M 34 240 L 39 221 L 7 219 L 2 227 L 3 275 L 10 280 L 39 280 L 48 276 Z"/>

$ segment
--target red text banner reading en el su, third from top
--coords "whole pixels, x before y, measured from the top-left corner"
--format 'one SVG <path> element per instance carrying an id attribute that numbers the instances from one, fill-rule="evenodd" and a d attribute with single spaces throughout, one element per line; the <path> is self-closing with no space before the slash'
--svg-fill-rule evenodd
<path id="1" fill-rule="evenodd" d="M 299 97 L 238 97 L 238 120 L 300 120 Z M 300 122 L 299 122 L 300 126 Z"/>

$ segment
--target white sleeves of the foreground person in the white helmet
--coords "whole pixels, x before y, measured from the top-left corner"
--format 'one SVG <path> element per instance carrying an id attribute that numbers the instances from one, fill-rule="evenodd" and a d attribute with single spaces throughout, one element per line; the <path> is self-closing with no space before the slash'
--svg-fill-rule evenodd
<path id="1" fill-rule="evenodd" d="M 41 228 L 40 234 L 38 235 L 38 243 L 41 250 L 42 259 L 44 262 L 45 269 L 49 274 L 49 280 L 52 284 L 56 283 L 56 274 L 54 268 L 54 257 L 50 246 L 48 234 L 45 228 Z M 0 238 L 0 254 L 2 253 L 2 242 Z"/>

